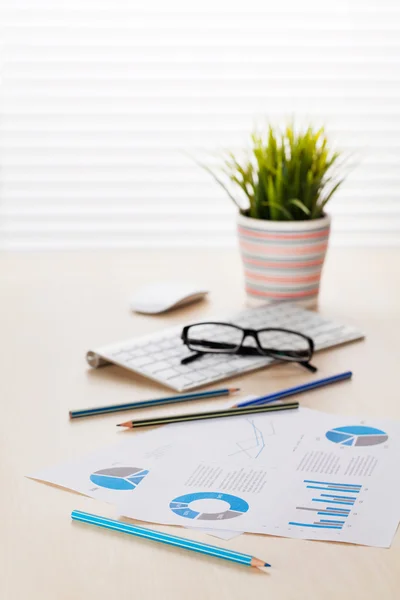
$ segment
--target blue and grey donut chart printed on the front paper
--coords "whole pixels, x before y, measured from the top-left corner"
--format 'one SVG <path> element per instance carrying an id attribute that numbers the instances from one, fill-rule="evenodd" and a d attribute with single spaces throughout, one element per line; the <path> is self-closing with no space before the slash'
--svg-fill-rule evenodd
<path id="1" fill-rule="evenodd" d="M 197 500 L 222 500 L 229 504 L 229 508 L 221 512 L 199 512 L 190 508 L 190 504 Z M 198 519 L 199 521 L 221 521 L 240 517 L 249 510 L 249 505 L 243 498 L 224 494 L 223 492 L 194 492 L 177 496 L 170 502 L 170 509 L 179 517 Z"/>

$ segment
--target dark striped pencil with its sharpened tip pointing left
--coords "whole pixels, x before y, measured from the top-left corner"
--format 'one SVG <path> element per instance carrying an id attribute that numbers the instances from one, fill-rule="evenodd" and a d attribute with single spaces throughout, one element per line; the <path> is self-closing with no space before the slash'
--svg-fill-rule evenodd
<path id="1" fill-rule="evenodd" d="M 267 406 L 249 406 L 249 408 L 225 408 L 212 412 L 192 413 L 187 415 L 171 415 L 170 417 L 157 417 L 155 419 L 141 419 L 139 421 L 127 421 L 119 423 L 117 427 L 128 427 L 136 429 L 137 427 L 153 427 L 154 425 L 167 425 L 168 423 L 182 423 L 185 421 L 201 421 L 205 419 L 219 419 L 220 417 L 236 417 L 239 415 L 249 415 L 253 413 L 274 412 L 278 410 L 291 410 L 299 408 L 298 402 L 287 404 L 268 404 Z"/>

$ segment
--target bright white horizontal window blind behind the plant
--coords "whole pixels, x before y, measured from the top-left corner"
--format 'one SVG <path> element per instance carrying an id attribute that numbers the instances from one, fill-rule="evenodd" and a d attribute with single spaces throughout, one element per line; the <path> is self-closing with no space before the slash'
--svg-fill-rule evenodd
<path id="1" fill-rule="evenodd" d="M 3 0 L 0 16 L 3 248 L 231 244 L 234 207 L 188 154 L 241 148 L 264 118 L 326 124 L 351 154 L 334 242 L 400 242 L 397 0 Z"/>

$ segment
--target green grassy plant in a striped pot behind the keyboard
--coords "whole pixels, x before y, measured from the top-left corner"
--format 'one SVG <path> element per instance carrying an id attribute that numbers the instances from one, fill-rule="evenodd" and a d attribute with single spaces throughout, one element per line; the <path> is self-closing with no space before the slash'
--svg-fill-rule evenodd
<path id="1" fill-rule="evenodd" d="M 251 136 L 244 158 L 229 153 L 225 183 L 205 166 L 237 205 L 239 244 L 251 304 L 317 303 L 328 246 L 326 204 L 341 185 L 324 129 Z M 204 167 L 204 165 L 202 165 Z M 229 186 L 229 187 L 228 187 Z"/>

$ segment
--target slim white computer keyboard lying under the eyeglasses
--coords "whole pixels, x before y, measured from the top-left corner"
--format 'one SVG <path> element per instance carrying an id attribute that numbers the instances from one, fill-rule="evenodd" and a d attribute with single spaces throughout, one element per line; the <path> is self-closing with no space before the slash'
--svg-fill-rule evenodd
<path id="1" fill-rule="evenodd" d="M 235 323 L 249 329 L 265 327 L 292 329 L 311 337 L 316 351 L 364 337 L 354 327 L 334 323 L 318 313 L 288 304 L 251 308 L 233 316 L 222 318 L 219 316 L 205 320 Z M 87 361 L 94 368 L 114 363 L 178 392 L 260 369 L 276 362 L 262 356 L 205 354 L 188 365 L 182 365 L 182 358 L 192 352 L 183 344 L 181 333 L 182 326 L 178 326 L 103 346 L 89 351 Z"/>

